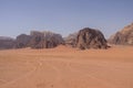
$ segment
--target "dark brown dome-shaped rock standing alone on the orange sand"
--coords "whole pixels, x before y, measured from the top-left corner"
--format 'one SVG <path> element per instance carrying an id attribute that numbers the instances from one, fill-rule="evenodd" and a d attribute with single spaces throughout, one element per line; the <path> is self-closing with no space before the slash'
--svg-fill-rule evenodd
<path id="1" fill-rule="evenodd" d="M 104 35 L 100 31 L 90 28 L 80 30 L 76 37 L 76 46 L 81 50 L 108 48 Z"/>

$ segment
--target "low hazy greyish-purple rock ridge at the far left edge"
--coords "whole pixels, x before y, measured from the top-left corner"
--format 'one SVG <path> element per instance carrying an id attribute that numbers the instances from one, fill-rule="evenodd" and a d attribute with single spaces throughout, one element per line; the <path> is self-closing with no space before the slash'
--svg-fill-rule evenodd
<path id="1" fill-rule="evenodd" d="M 14 40 L 7 36 L 0 36 L 0 50 L 13 48 Z"/>

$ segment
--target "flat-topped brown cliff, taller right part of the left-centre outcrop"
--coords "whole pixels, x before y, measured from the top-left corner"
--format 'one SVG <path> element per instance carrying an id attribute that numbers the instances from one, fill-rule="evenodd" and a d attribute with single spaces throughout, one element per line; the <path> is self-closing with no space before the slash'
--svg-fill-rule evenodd
<path id="1" fill-rule="evenodd" d="M 52 32 L 31 32 L 30 45 L 32 48 L 52 48 L 63 43 L 63 38 L 60 34 Z"/>

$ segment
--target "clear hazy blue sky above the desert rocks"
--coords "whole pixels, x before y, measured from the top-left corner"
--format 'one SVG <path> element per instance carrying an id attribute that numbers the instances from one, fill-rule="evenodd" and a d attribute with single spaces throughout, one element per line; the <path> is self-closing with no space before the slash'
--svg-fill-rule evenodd
<path id="1" fill-rule="evenodd" d="M 0 0 L 0 36 L 92 28 L 109 37 L 132 22 L 133 0 Z"/>

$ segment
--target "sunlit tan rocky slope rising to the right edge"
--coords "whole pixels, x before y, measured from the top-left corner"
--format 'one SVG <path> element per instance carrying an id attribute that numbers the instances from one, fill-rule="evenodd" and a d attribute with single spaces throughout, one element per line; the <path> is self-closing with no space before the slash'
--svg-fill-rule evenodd
<path id="1" fill-rule="evenodd" d="M 117 45 L 133 45 L 133 23 L 112 35 L 109 38 L 109 43 Z"/>

